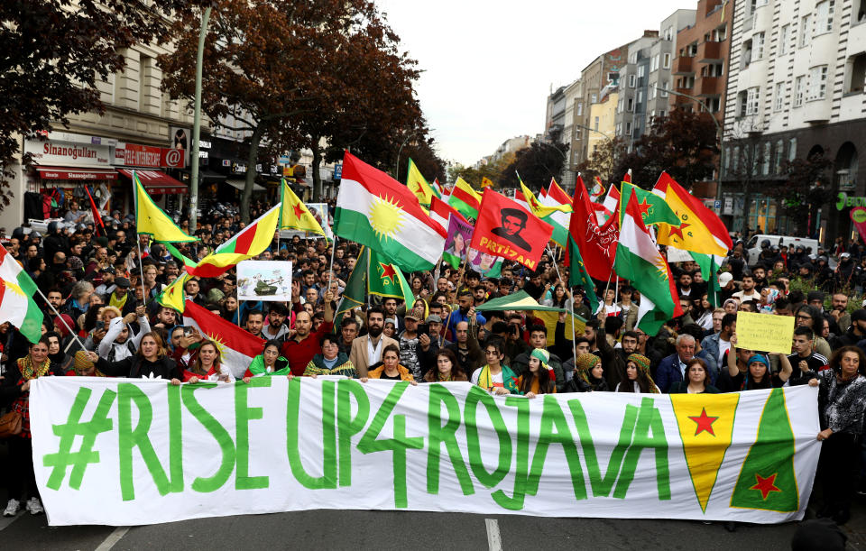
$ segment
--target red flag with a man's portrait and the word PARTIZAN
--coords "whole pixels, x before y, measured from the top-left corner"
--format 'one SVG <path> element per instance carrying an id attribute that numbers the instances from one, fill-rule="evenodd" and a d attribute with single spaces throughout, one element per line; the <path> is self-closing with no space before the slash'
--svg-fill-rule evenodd
<path id="1" fill-rule="evenodd" d="M 508 197 L 486 188 L 470 246 L 535 270 L 552 234 L 552 225 L 542 222 Z"/>

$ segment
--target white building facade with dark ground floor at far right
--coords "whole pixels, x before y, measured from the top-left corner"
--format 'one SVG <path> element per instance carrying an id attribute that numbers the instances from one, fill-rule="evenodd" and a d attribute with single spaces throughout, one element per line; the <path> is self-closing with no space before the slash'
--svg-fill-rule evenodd
<path id="1" fill-rule="evenodd" d="M 866 195 L 858 170 L 866 149 L 866 12 L 859 0 L 737 2 L 725 108 L 723 214 L 737 229 L 802 232 L 769 187 L 785 161 L 822 155 L 832 169 L 815 186 L 830 203 L 812 223 L 825 241 L 855 232 L 835 197 Z"/>

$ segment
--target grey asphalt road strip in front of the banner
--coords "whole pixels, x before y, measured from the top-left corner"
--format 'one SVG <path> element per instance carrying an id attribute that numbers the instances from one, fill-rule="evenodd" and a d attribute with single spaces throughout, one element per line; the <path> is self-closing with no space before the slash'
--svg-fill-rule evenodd
<path id="1" fill-rule="evenodd" d="M 797 525 L 310 510 L 133 528 L 50 528 L 44 515 L 0 521 L 5 549 L 786 549 Z M 497 546 L 499 544 L 499 546 Z"/>

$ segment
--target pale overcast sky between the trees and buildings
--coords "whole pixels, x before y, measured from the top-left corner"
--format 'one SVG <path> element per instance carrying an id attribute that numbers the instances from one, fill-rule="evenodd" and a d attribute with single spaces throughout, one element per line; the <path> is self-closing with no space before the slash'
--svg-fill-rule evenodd
<path id="1" fill-rule="evenodd" d="M 424 70 L 421 108 L 446 161 L 541 133 L 546 98 L 592 60 L 696 0 L 375 0 Z"/>

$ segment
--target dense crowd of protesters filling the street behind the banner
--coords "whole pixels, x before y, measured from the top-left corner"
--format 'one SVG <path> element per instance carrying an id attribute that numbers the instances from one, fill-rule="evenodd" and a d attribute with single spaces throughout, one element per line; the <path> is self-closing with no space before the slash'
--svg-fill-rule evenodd
<path id="1" fill-rule="evenodd" d="M 253 216 L 265 205 L 255 205 Z M 30 381 L 41 376 L 161 377 L 172 384 L 234 381 L 220 348 L 155 298 L 180 274 L 165 246 L 136 235 L 134 217 L 115 212 L 105 231 L 71 204 L 65 222 L 47 234 L 16 228 L 5 244 L 47 298 L 42 338 L 29 343 L 15 327 L 0 326 L 4 372 L 0 406 L 21 412 L 23 430 L 5 439 L 12 462 L 6 473 L 4 514 L 23 507 L 42 511 L 33 479 L 28 423 Z M 179 245 L 200 260 L 244 225 L 237 216 L 199 223 L 198 243 Z M 181 225 L 189 228 L 187 223 Z M 139 243 L 136 243 L 138 240 Z M 138 258 L 139 246 L 143 258 Z M 866 280 L 866 256 L 767 246 L 755 266 L 738 243 L 718 277 L 718 298 L 694 262 L 672 264 L 684 314 L 656 335 L 637 326 L 640 296 L 622 280 L 597 294 L 591 311 L 584 290 L 570 289 L 567 268 L 547 254 L 536 271 L 505 262 L 499 277 L 441 264 L 410 274 L 412 308 L 396 298 L 370 298 L 334 326 L 345 282 L 355 268 L 357 243 L 324 239 L 274 239 L 262 260 L 291 261 L 291 300 L 239 302 L 235 271 L 194 278 L 186 296 L 252 335 L 262 354 L 242 381 L 257 376 L 341 375 L 367 381 L 424 384 L 470 381 L 493 394 L 532 399 L 562 392 L 717 393 L 809 384 L 819 387 L 824 442 L 819 466 L 824 506 L 820 515 L 844 523 L 866 464 L 861 462 L 866 405 L 866 309 L 852 296 Z M 830 269 L 828 254 L 838 258 Z M 560 278 L 561 276 L 561 278 Z M 792 289 L 797 282 L 797 289 Z M 328 287 L 329 285 L 329 287 Z M 805 290 L 804 290 L 805 289 Z M 532 311 L 479 311 L 485 302 L 519 290 L 546 306 L 563 308 L 552 332 Z M 856 305 L 860 307 L 861 305 Z M 60 312 L 60 316 L 54 313 Z M 572 338 L 566 311 L 586 320 Z M 737 346 L 739 311 L 796 318 L 791 354 L 766 354 Z"/>

